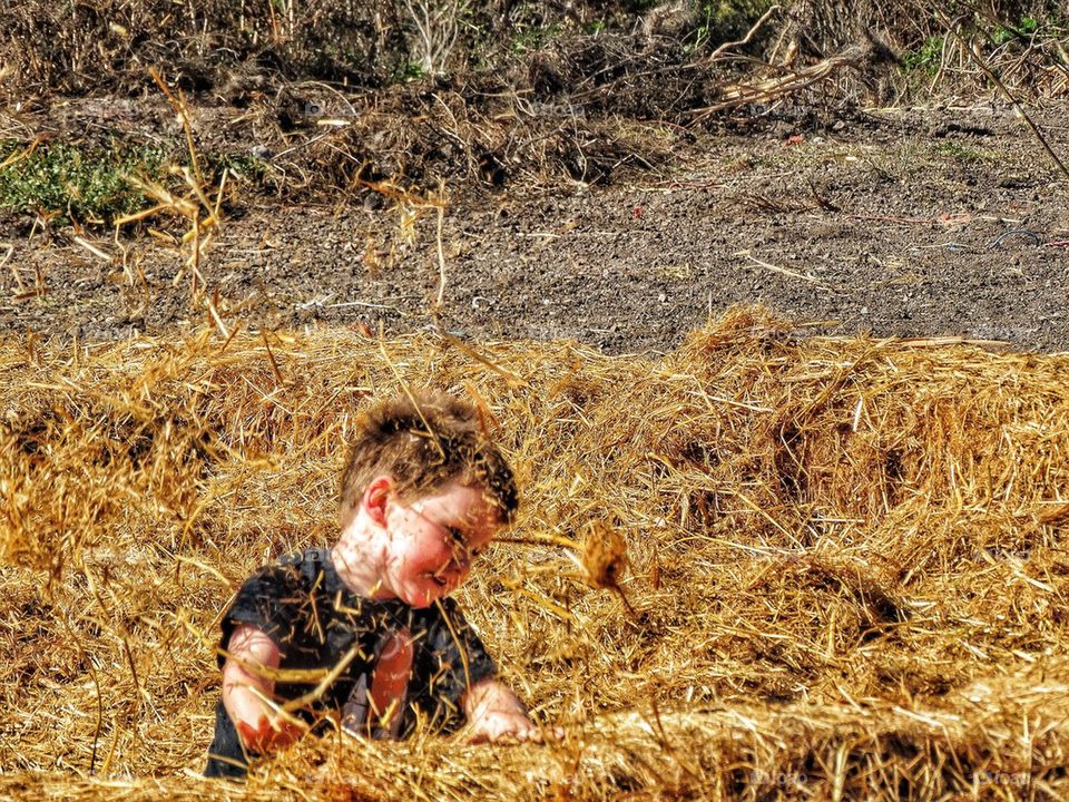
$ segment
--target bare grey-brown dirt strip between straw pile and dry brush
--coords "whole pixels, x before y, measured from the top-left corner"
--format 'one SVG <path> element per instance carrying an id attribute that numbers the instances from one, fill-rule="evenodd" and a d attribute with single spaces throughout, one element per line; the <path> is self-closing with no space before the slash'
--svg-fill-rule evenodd
<path id="1" fill-rule="evenodd" d="M 1032 114 L 1069 158 L 1069 102 Z M 651 136 L 664 136 L 650 127 Z M 1069 350 L 1069 184 L 1002 104 L 783 113 L 673 146 L 609 186 L 461 188 L 450 196 L 439 319 L 477 340 L 575 338 L 670 348 L 709 314 L 763 302 L 823 331 L 960 335 Z M 202 272 L 233 325 L 432 323 L 435 216 L 393 202 L 292 207 L 258 196 Z M 70 233 L 0 218 L 0 327 L 84 341 L 199 325 L 179 258 L 151 237 L 106 262 Z M 124 271 L 117 254 L 125 248 Z M 7 250 L 0 250 L 0 260 Z M 26 287 L 43 287 L 27 297 Z"/>

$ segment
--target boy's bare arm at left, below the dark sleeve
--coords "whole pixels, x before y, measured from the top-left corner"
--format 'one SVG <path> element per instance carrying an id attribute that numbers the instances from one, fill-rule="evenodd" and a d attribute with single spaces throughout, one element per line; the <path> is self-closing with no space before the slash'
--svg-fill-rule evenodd
<path id="1" fill-rule="evenodd" d="M 234 722 L 242 743 L 261 754 L 293 743 L 301 735 L 301 730 L 264 704 L 261 696 L 271 697 L 275 681 L 255 668 L 256 665 L 277 668 L 282 662 L 278 646 L 258 627 L 238 624 L 231 635 L 227 652 L 232 656 L 223 666 L 223 706 Z M 235 657 L 244 661 L 248 667 Z"/>

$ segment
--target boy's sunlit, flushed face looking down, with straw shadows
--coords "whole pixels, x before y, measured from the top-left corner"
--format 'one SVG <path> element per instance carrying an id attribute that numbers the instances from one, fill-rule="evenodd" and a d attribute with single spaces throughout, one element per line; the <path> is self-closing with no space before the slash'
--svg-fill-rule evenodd
<path id="1" fill-rule="evenodd" d="M 390 535 L 384 584 L 405 604 L 429 607 L 460 587 L 474 557 L 500 528 L 497 509 L 478 487 L 451 482 L 386 505 Z"/>

